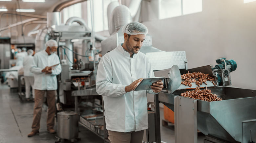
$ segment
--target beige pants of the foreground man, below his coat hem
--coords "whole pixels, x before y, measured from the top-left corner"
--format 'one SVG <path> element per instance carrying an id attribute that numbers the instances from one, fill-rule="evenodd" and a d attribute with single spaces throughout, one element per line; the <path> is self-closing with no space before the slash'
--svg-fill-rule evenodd
<path id="1" fill-rule="evenodd" d="M 144 130 L 127 133 L 108 130 L 108 135 L 110 137 L 111 143 L 142 143 L 143 134 Z"/>

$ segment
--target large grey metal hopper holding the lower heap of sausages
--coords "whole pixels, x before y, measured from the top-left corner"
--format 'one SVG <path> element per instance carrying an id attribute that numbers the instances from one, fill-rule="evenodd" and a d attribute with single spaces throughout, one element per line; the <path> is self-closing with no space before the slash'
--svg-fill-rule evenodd
<path id="1" fill-rule="evenodd" d="M 159 101 L 166 105 L 168 108 L 170 108 L 172 111 L 174 111 L 174 106 L 175 108 L 177 107 L 175 105 L 175 98 L 185 98 L 187 102 L 185 102 L 185 104 L 190 104 L 190 102 L 192 103 L 192 101 L 197 101 L 197 113 L 195 114 L 195 124 L 197 124 L 197 129 L 201 131 L 204 135 L 218 140 L 217 143 L 219 143 L 220 141 L 232 143 L 252 143 L 252 141 L 255 142 L 256 90 L 233 87 L 212 87 L 207 89 L 211 89 L 211 92 L 213 94 L 217 94 L 218 97 L 221 97 L 223 100 L 207 102 L 182 97 L 180 96 L 181 93 L 188 90 L 182 89 L 176 90 L 172 94 L 169 94 L 168 92 L 160 92 Z M 179 105 L 182 106 L 181 104 Z M 189 113 L 190 111 L 186 109 L 181 112 Z M 187 122 L 187 119 L 185 119 L 185 117 L 183 118 L 181 116 L 178 116 L 178 118 L 179 119 L 177 121 L 183 122 L 183 124 L 184 122 Z M 188 128 L 185 126 L 186 125 L 184 124 L 184 128 Z M 207 136 L 204 140 L 205 143 L 209 142 L 207 141 Z"/>

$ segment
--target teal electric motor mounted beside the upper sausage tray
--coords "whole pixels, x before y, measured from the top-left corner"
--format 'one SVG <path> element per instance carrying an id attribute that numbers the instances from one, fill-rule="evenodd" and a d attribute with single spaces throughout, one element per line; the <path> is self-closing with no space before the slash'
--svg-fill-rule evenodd
<path id="1" fill-rule="evenodd" d="M 216 65 L 214 68 L 212 68 L 212 70 L 225 69 L 225 62 L 222 59 L 224 59 L 224 61 L 226 62 L 226 69 L 229 69 L 230 72 L 236 70 L 236 68 L 237 68 L 236 62 L 234 60 L 226 60 L 226 58 L 224 58 L 224 57 L 216 60 L 218 65 Z"/>

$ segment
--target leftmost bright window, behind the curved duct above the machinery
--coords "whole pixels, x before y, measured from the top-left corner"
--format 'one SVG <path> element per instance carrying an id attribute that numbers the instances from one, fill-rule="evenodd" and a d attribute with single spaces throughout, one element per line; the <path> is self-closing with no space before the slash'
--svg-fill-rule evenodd
<path id="1" fill-rule="evenodd" d="M 82 17 L 81 3 L 63 9 L 63 23 L 66 23 L 71 17 Z"/>

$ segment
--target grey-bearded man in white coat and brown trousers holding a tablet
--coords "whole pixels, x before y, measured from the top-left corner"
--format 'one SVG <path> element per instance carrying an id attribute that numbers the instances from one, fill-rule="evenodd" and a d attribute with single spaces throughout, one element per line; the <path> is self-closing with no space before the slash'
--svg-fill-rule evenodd
<path id="1" fill-rule="evenodd" d="M 47 94 L 47 131 L 55 133 L 55 95 L 57 89 L 56 75 L 60 74 L 61 66 L 59 56 L 55 54 L 58 43 L 55 40 L 48 40 L 45 44 L 46 50 L 36 53 L 33 57 L 30 71 L 34 73 L 35 104 L 32 122 L 32 132 L 28 137 L 39 133 L 40 119 L 44 94 Z"/>

